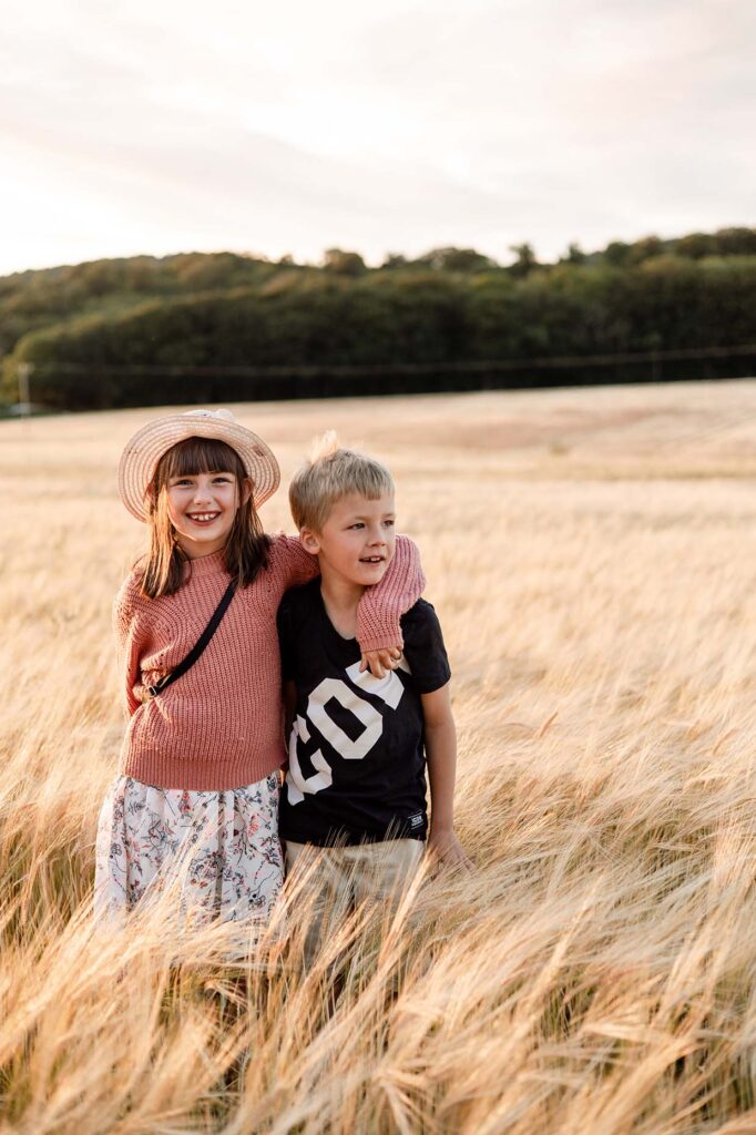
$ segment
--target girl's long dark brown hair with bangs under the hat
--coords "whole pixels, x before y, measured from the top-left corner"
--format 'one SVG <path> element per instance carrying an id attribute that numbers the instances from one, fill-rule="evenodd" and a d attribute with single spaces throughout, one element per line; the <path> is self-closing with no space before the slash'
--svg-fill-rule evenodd
<path id="1" fill-rule="evenodd" d="M 143 560 L 142 595 L 157 599 L 173 595 L 187 578 L 192 561 L 176 539 L 176 529 L 168 515 L 168 485 L 174 477 L 195 477 L 198 473 L 233 473 L 236 491 L 242 494 L 245 482 L 250 488 L 234 515 L 234 523 L 224 548 L 226 571 L 237 587 L 249 587 L 263 568 L 268 566 L 270 539 L 252 501 L 253 486 L 242 459 L 230 445 L 204 437 L 188 437 L 163 453 L 156 465 L 148 486 L 150 550 Z"/>

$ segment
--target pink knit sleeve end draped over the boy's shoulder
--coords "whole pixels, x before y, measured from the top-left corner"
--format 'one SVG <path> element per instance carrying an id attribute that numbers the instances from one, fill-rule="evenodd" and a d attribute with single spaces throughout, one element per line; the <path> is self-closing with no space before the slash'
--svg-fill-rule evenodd
<path id="1" fill-rule="evenodd" d="M 386 574 L 380 583 L 366 588 L 360 599 L 356 637 L 363 653 L 402 646 L 401 616 L 417 603 L 425 586 L 418 546 L 409 537 L 397 536 Z"/>

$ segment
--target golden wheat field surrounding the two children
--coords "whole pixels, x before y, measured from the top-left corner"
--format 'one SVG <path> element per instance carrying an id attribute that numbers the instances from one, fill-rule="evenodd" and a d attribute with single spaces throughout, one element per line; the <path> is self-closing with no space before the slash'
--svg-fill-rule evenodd
<path id="1" fill-rule="evenodd" d="M 756 1132 L 756 381 L 234 409 L 284 484 L 331 427 L 394 471 L 476 873 L 309 969 L 306 889 L 242 967 L 98 934 L 148 414 L 0 422 L 0 1130 Z"/>

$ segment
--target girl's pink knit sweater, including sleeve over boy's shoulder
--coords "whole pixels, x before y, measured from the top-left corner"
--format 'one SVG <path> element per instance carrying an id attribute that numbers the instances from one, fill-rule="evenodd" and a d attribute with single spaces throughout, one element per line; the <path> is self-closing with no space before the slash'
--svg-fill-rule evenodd
<path id="1" fill-rule="evenodd" d="M 228 585 L 222 552 L 193 560 L 174 595 L 148 599 L 133 571 L 114 604 L 126 676 L 121 773 L 160 788 L 220 791 L 261 780 L 285 758 L 276 612 L 284 591 L 318 572 L 299 539 L 272 537 L 268 569 L 240 588 L 209 646 L 165 693 L 145 687 L 188 654 Z M 386 575 L 364 592 L 363 650 L 398 646 L 400 615 L 425 586 L 418 549 L 397 537 Z"/>

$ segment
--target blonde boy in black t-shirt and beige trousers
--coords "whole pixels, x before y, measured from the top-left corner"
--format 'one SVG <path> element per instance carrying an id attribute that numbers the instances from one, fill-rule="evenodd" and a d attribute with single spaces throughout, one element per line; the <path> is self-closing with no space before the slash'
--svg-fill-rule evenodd
<path id="1" fill-rule="evenodd" d="M 279 831 L 287 871 L 306 846 L 321 849 L 313 876 L 320 907 L 327 898 L 344 909 L 389 896 L 417 868 L 428 831 L 426 756 L 428 850 L 448 865 L 469 866 L 453 825 L 450 667 L 434 608 L 420 599 L 402 617 L 404 653 L 393 670 L 383 679 L 360 670 L 360 596 L 383 578 L 394 554 L 388 470 L 338 448 L 329 434 L 294 476 L 289 503 L 321 574 L 288 591 L 278 614 L 291 718 Z"/>

